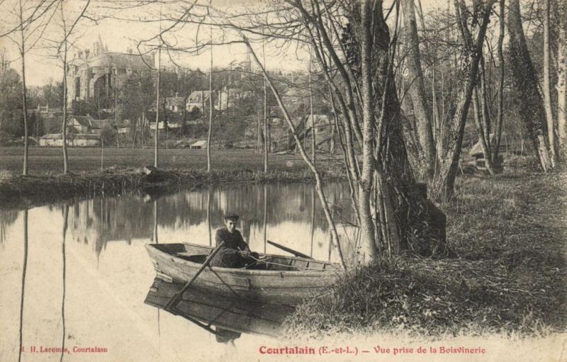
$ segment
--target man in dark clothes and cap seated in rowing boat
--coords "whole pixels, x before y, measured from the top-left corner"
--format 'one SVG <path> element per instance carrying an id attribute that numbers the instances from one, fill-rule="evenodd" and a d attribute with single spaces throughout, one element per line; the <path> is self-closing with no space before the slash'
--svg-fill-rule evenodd
<path id="1" fill-rule="evenodd" d="M 223 266 L 224 268 L 252 268 L 258 260 L 258 253 L 250 251 L 248 244 L 242 238 L 240 231 L 236 229 L 238 215 L 226 214 L 225 227 L 217 230 L 215 235 L 216 245 L 225 242 L 218 254 L 215 255 L 211 266 Z"/>

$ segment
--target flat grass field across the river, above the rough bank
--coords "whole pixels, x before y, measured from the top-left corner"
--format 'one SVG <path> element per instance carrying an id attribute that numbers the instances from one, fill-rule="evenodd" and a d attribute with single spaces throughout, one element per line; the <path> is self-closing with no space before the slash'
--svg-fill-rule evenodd
<path id="1" fill-rule="evenodd" d="M 56 147 L 30 147 L 29 172 L 32 175 L 59 174 L 62 172 L 62 149 Z M 264 155 L 253 150 L 212 150 L 213 169 L 262 170 Z M 22 171 L 23 147 L 0 148 L 0 172 L 20 174 Z M 140 167 L 154 164 L 154 150 L 149 148 L 104 149 L 103 166 Z M 160 149 L 159 168 L 167 170 L 206 169 L 205 149 Z M 305 162 L 299 154 L 269 155 L 269 169 L 303 169 Z M 101 169 L 100 148 L 69 148 L 69 169 L 73 172 L 98 171 Z"/>

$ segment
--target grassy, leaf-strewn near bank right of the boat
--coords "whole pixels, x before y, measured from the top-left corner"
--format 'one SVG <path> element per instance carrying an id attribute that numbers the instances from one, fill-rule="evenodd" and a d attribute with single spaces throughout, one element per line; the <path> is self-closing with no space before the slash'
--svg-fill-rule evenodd
<path id="1" fill-rule="evenodd" d="M 564 330 L 566 177 L 459 179 L 456 202 L 444 207 L 458 258 L 376 261 L 299 307 L 286 327 L 319 336 Z"/>

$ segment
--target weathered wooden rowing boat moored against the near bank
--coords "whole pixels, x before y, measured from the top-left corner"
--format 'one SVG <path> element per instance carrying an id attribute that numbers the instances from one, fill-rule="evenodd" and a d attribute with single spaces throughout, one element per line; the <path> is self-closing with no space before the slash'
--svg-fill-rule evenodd
<path id="1" fill-rule="evenodd" d="M 146 249 L 165 281 L 186 283 L 213 250 L 196 244 L 147 244 Z M 295 256 L 260 254 L 267 270 L 205 268 L 196 278 L 196 288 L 264 302 L 296 305 L 321 293 L 334 283 L 342 270 L 336 263 Z"/>

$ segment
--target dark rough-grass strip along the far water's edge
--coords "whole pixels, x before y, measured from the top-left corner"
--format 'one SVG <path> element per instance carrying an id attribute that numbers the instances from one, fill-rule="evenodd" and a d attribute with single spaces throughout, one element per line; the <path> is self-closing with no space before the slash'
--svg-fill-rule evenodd
<path id="1" fill-rule="evenodd" d="M 327 181 L 342 179 L 338 168 L 320 171 Z M 250 169 L 232 171 L 162 171 L 159 176 L 145 175 L 142 169 L 70 173 L 68 175 L 16 176 L 0 180 L 0 208 L 26 209 L 61 200 L 116 196 L 142 192 L 152 197 L 220 183 L 314 182 L 307 169 L 272 170 L 264 173 Z"/>

